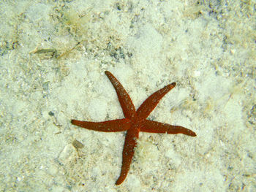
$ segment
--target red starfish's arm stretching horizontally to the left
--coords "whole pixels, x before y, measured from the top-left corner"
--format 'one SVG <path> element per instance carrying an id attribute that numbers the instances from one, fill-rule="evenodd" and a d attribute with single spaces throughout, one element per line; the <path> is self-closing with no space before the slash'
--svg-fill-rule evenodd
<path id="1" fill-rule="evenodd" d="M 75 126 L 80 126 L 94 131 L 102 132 L 116 132 L 116 131 L 127 131 L 131 126 L 130 120 L 117 119 L 117 120 L 107 120 L 103 122 L 91 122 L 91 121 L 80 121 L 71 120 L 71 123 Z"/>

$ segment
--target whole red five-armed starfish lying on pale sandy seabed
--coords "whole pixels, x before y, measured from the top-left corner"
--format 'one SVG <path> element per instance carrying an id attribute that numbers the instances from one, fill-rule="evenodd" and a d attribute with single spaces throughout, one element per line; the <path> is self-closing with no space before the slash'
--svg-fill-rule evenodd
<path id="1" fill-rule="evenodd" d="M 135 106 L 132 103 L 132 99 L 129 97 L 127 91 L 121 83 L 113 76 L 110 72 L 106 71 L 105 74 L 112 83 L 116 90 L 118 100 L 121 104 L 121 108 L 124 112 L 123 119 L 117 120 L 107 120 L 103 122 L 90 122 L 90 121 L 80 121 L 71 120 L 71 123 L 75 126 L 80 126 L 83 128 L 91 129 L 94 131 L 103 132 L 116 132 L 116 131 L 127 131 L 124 142 L 123 150 L 123 162 L 121 166 L 121 174 L 116 181 L 116 185 L 120 185 L 124 179 L 127 177 L 129 171 L 129 165 L 132 162 L 134 149 L 137 144 L 137 139 L 139 137 L 139 132 L 148 133 L 159 133 L 159 134 L 187 134 L 188 136 L 195 137 L 194 131 L 191 131 L 182 126 L 171 126 L 167 123 L 159 123 L 153 120 L 147 120 L 146 118 L 157 107 L 160 99 L 165 96 L 172 88 L 175 87 L 176 82 L 173 82 L 164 88 L 156 91 L 151 96 L 146 99 L 143 104 L 140 105 L 138 110 L 135 110 Z"/>

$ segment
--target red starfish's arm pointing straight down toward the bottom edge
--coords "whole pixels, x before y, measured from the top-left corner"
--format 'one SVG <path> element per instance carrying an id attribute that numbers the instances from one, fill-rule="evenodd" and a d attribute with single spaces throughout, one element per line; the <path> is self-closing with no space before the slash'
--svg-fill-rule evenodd
<path id="1" fill-rule="evenodd" d="M 132 157 L 134 155 L 134 148 L 137 144 L 137 139 L 139 136 L 139 131 L 134 131 L 132 128 L 127 131 L 127 136 L 124 141 L 124 150 L 123 150 L 123 161 L 121 166 L 121 173 L 116 180 L 116 185 L 123 183 L 127 177 L 129 166 L 132 162 Z"/>

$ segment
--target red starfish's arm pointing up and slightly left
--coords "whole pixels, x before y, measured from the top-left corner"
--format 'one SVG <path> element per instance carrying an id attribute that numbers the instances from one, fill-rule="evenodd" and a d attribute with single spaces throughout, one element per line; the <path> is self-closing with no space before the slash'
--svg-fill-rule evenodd
<path id="1" fill-rule="evenodd" d="M 124 117 L 131 119 L 136 115 L 136 110 L 134 104 L 132 103 L 132 99 L 129 97 L 127 91 L 125 91 L 123 85 L 121 85 L 121 83 L 116 79 L 115 76 L 113 76 L 112 73 L 106 71 L 105 74 L 108 76 L 108 79 L 116 90 L 118 100 L 124 112 Z"/>

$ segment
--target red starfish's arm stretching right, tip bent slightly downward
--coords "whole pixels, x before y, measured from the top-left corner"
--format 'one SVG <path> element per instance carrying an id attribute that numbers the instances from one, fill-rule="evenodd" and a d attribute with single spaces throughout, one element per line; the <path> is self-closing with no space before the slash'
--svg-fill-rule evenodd
<path id="1" fill-rule="evenodd" d="M 140 131 L 159 134 L 186 134 L 192 137 L 197 136 L 194 131 L 191 131 L 188 128 L 184 128 L 182 126 L 171 126 L 167 123 L 159 123 L 153 120 L 146 120 L 140 128 Z"/>

